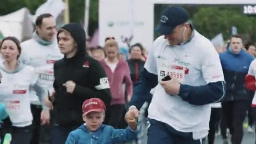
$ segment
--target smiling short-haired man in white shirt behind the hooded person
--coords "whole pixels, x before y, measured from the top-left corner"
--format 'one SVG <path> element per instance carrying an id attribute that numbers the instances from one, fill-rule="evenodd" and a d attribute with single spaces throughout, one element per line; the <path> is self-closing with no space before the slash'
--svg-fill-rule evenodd
<path id="1" fill-rule="evenodd" d="M 21 43 L 22 51 L 19 60 L 35 67 L 39 73 L 38 83 L 45 88 L 44 96 L 47 96 L 47 90 L 53 91 L 53 63 L 63 57 L 57 45 L 55 32 L 56 22 L 53 16 L 50 13 L 44 13 L 35 21 L 32 39 Z M 39 144 L 41 124 L 49 124 L 49 109 L 43 107 L 44 98 L 38 99 L 34 90 L 30 91 L 30 95 L 33 115 L 33 136 L 30 144 Z"/>

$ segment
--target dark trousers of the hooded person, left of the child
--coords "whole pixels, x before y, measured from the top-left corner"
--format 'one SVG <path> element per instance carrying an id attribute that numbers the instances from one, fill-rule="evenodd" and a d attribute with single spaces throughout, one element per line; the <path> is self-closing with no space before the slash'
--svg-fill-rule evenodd
<path id="1" fill-rule="evenodd" d="M 74 127 L 61 127 L 54 125 L 51 131 L 51 144 L 65 144 L 67 136 L 71 131 L 74 131 L 79 126 Z"/>

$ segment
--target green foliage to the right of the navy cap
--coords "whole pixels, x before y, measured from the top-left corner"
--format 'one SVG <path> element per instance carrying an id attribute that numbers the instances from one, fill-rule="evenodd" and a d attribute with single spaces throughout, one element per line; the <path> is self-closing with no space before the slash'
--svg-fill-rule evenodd
<path id="1" fill-rule="evenodd" d="M 253 19 L 243 15 L 239 7 L 201 7 L 192 16 L 192 22 L 198 32 L 210 39 L 219 33 L 227 39 L 232 26 L 237 27 L 240 34 L 249 33 L 253 25 Z"/>

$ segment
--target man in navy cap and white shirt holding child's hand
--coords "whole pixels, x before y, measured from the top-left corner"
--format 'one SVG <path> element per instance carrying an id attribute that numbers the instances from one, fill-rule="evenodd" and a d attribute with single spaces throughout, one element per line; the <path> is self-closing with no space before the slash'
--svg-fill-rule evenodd
<path id="1" fill-rule="evenodd" d="M 188 19 L 181 7 L 165 8 L 156 28 L 162 36 L 153 43 L 133 91 L 126 115 L 137 117 L 156 86 L 149 105 L 148 144 L 205 144 L 210 104 L 225 93 L 219 55 Z"/>

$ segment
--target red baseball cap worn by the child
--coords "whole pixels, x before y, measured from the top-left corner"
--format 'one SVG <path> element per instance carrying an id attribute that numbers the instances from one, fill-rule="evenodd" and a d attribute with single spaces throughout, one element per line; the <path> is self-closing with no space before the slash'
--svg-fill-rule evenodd
<path id="1" fill-rule="evenodd" d="M 87 115 L 89 112 L 102 112 L 103 110 L 106 110 L 106 106 L 101 99 L 92 98 L 83 102 L 82 109 L 83 114 Z"/>

